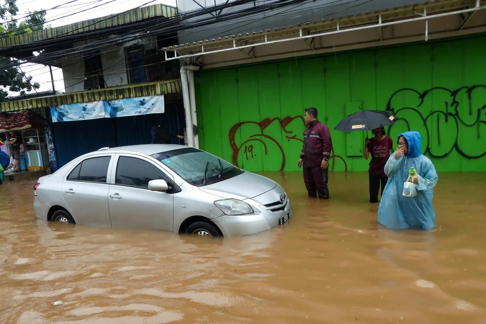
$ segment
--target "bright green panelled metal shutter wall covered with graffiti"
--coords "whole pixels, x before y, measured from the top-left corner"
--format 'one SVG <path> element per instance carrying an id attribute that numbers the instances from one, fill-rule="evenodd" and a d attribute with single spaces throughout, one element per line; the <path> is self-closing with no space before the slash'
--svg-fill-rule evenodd
<path id="1" fill-rule="evenodd" d="M 386 129 L 394 142 L 419 131 L 438 171 L 486 171 L 485 53 L 476 37 L 203 71 L 200 148 L 248 171 L 295 171 L 313 106 L 331 130 L 330 168 L 366 171 L 366 133 L 333 128 L 360 107 L 388 109 L 401 118 Z"/>

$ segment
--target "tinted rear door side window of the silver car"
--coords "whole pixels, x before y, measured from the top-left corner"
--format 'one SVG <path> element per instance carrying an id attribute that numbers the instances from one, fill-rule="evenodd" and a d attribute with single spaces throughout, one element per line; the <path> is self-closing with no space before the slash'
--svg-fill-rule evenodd
<path id="1" fill-rule="evenodd" d="M 71 171 L 67 180 L 106 183 L 110 160 L 111 156 L 86 159 Z"/>

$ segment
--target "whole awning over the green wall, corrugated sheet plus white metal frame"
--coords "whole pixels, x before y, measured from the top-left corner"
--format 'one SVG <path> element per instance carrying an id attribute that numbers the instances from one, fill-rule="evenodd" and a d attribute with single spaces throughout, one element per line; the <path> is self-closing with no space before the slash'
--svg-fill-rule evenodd
<path id="1" fill-rule="evenodd" d="M 302 39 L 313 48 L 312 38 L 327 34 L 338 34 L 359 29 L 379 28 L 394 24 L 412 22 L 449 15 L 471 15 L 486 9 L 486 0 L 429 0 L 400 7 L 365 12 L 345 17 L 333 17 L 326 20 L 306 22 L 287 27 L 264 31 L 234 34 L 224 37 L 200 40 L 197 42 L 170 46 L 165 51 L 166 60 L 197 57 L 216 52 L 240 50 L 252 55 L 255 46 L 270 45 L 279 42 Z M 424 29 L 427 39 L 427 29 Z M 174 55 L 168 56 L 168 52 Z"/>

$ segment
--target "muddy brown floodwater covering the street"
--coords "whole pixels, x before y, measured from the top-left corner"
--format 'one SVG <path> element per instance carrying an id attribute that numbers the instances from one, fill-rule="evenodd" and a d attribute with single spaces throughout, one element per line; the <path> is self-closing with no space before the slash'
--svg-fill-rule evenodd
<path id="1" fill-rule="evenodd" d="M 264 175 L 291 222 L 238 238 L 43 222 L 35 181 L 1 185 L 0 323 L 486 323 L 486 173 L 439 174 L 429 232 L 378 226 L 367 173 L 329 201 Z"/>

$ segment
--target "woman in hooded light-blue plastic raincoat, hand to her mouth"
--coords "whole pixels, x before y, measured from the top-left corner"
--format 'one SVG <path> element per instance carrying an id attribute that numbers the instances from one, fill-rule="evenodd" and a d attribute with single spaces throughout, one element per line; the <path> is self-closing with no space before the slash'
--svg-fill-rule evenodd
<path id="1" fill-rule="evenodd" d="M 384 169 L 389 180 L 378 208 L 378 222 L 391 229 L 432 229 L 435 226 L 432 197 L 437 172 L 432 161 L 422 154 L 418 132 L 405 132 L 398 137 L 398 149 Z M 417 171 L 413 181 L 417 195 L 405 197 L 402 195 L 403 183 L 407 181 L 411 167 Z"/>

